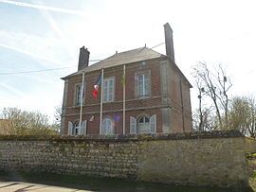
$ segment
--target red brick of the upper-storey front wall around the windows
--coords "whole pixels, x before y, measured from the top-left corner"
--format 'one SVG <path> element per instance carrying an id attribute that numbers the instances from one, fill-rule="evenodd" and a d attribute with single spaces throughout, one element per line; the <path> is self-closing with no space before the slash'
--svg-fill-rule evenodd
<path id="1" fill-rule="evenodd" d="M 159 77 L 159 59 L 146 61 L 146 64 L 141 64 L 142 62 L 136 62 L 126 66 L 126 99 L 136 99 L 136 73 L 137 72 L 150 72 L 151 75 L 151 96 L 160 96 L 160 77 Z M 104 79 L 115 77 L 115 99 L 114 101 L 122 102 L 122 66 L 108 68 L 104 70 Z M 99 93 L 98 99 L 93 98 L 93 85 L 101 75 L 101 71 L 91 72 L 88 75 L 85 75 L 86 82 L 86 94 L 85 94 L 85 107 L 87 105 L 100 104 L 101 92 Z M 68 99 L 67 99 L 67 108 L 74 106 L 74 94 L 75 94 L 75 85 L 82 82 L 82 75 L 72 77 L 69 79 L 68 86 Z M 114 103 L 116 105 L 116 103 Z M 105 104 L 104 104 L 105 105 Z M 136 104 L 134 106 L 137 106 Z M 70 110 L 70 109 L 69 109 Z M 69 113 L 73 113 L 72 110 Z"/>

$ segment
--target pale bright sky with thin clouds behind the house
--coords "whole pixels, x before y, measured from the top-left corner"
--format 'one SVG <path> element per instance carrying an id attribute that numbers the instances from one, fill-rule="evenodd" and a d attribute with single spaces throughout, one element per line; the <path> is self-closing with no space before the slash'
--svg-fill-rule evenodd
<path id="1" fill-rule="evenodd" d="M 174 29 L 176 63 L 188 79 L 198 61 L 221 62 L 233 82 L 232 96 L 255 94 L 254 8 L 252 0 L 0 0 L 0 109 L 52 116 L 63 98 L 61 78 L 77 70 L 82 45 L 91 60 L 153 47 L 164 42 L 166 22 Z M 165 54 L 164 45 L 155 51 Z M 70 68 L 1 75 L 59 67 Z"/>

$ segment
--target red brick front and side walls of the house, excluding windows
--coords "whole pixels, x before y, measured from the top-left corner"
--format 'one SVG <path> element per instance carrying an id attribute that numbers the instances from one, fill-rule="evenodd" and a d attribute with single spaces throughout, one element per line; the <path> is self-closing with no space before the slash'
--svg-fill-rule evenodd
<path id="1" fill-rule="evenodd" d="M 167 76 L 168 84 L 171 90 L 168 94 L 162 96 L 161 88 L 161 72 L 160 63 L 167 62 L 169 65 Z M 171 67 L 172 66 L 172 67 Z M 123 88 L 121 85 L 122 66 L 104 69 L 104 79 L 115 78 L 115 99 L 114 102 L 103 103 L 103 117 L 109 116 L 114 118 L 114 115 L 120 116 L 120 122 L 115 122 L 115 133 L 122 134 L 122 96 Z M 136 96 L 136 75 L 137 73 L 148 72 L 151 77 L 150 96 L 147 98 L 137 98 Z M 99 134 L 100 124 L 100 98 L 101 91 L 99 92 L 98 99 L 93 98 L 93 85 L 101 75 L 101 71 L 90 72 L 85 74 L 86 93 L 85 103 L 82 108 L 82 120 L 89 120 L 92 115 L 95 115 L 94 122 L 88 123 L 88 134 Z M 183 93 L 183 110 L 181 106 L 181 92 L 179 81 L 182 79 L 182 93 Z M 67 101 L 64 114 L 64 134 L 67 134 L 68 121 L 75 122 L 79 120 L 80 106 L 74 106 L 75 86 L 82 82 L 82 75 L 72 77 L 68 80 Z M 171 102 L 170 102 L 171 100 Z M 139 61 L 129 63 L 126 65 L 126 132 L 129 133 L 130 129 L 130 116 L 138 117 L 139 114 L 145 113 L 148 115 L 156 115 L 157 128 L 156 132 L 163 132 L 162 113 L 161 109 L 171 109 L 169 115 L 170 131 L 192 131 L 192 114 L 190 103 L 190 86 L 181 74 L 175 69 L 170 61 L 166 58 L 159 58 L 149 61 Z M 183 119 L 184 116 L 184 128 Z"/>

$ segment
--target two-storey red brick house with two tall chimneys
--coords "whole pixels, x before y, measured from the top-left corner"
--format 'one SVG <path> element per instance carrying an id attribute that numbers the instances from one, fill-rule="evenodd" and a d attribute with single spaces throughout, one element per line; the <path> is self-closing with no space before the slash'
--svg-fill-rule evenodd
<path id="1" fill-rule="evenodd" d="M 90 52 L 80 49 L 78 71 L 63 78 L 62 134 L 192 131 L 192 85 L 174 62 L 173 30 L 169 24 L 164 25 L 164 31 L 166 55 L 145 46 L 88 66 Z M 102 69 L 102 84 L 95 98 L 92 93 Z"/>

